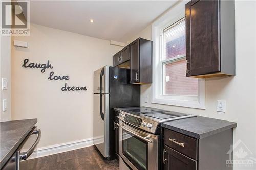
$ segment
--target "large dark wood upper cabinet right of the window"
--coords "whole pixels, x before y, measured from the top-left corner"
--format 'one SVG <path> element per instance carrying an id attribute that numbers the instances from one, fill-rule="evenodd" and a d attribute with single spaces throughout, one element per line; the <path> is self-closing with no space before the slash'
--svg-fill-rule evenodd
<path id="1" fill-rule="evenodd" d="M 186 4 L 186 76 L 235 75 L 234 1 Z"/>

